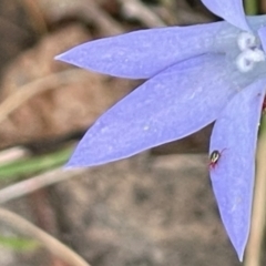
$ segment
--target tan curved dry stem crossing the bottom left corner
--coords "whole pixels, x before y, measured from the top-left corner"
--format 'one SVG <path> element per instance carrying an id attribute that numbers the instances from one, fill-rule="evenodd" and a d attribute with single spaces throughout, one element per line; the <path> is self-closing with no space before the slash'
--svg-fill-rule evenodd
<path id="1" fill-rule="evenodd" d="M 68 265 L 90 266 L 82 257 L 63 245 L 61 242 L 8 209 L 0 208 L 0 223 L 4 223 L 16 231 L 19 231 L 22 234 L 39 241 L 48 250 L 63 262 L 68 263 Z"/>

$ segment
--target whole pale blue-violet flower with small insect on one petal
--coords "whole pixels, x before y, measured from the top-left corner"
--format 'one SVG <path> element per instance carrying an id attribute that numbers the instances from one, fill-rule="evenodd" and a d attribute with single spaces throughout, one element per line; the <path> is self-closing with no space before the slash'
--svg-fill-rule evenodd
<path id="1" fill-rule="evenodd" d="M 242 0 L 202 1 L 225 21 L 141 30 L 84 43 L 57 58 L 101 73 L 147 79 L 95 122 L 68 166 L 129 157 L 216 121 L 211 178 L 242 260 L 266 89 L 266 16 L 245 17 Z"/>

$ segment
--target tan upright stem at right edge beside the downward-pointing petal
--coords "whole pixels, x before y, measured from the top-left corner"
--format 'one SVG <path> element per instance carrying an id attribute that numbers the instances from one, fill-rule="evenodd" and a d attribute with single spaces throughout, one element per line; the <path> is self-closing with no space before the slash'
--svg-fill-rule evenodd
<path id="1" fill-rule="evenodd" d="M 257 143 L 253 215 L 244 266 L 259 266 L 266 218 L 266 115 L 263 114 Z"/>

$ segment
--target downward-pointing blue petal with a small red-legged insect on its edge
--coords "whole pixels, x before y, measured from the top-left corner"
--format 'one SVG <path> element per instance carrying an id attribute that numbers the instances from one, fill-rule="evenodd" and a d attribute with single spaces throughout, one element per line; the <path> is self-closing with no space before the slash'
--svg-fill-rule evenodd
<path id="1" fill-rule="evenodd" d="M 253 201 L 255 152 L 266 79 L 259 80 L 233 98 L 216 121 L 211 153 L 221 152 L 211 168 L 214 194 L 227 234 L 243 259 Z"/>

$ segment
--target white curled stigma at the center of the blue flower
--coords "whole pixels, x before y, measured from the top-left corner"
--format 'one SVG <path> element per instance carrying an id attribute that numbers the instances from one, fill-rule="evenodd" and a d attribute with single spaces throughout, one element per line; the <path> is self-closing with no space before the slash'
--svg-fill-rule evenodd
<path id="1" fill-rule="evenodd" d="M 242 32 L 237 38 L 241 53 L 236 58 L 236 65 L 241 72 L 249 72 L 258 62 L 266 61 L 260 41 L 249 32 Z"/>

